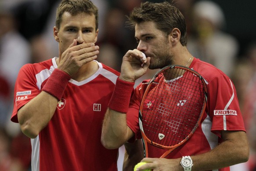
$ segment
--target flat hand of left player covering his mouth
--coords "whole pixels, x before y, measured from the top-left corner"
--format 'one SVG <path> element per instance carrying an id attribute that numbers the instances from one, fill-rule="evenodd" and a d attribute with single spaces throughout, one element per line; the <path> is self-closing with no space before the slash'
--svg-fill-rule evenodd
<path id="1" fill-rule="evenodd" d="M 75 74 L 84 64 L 97 58 L 99 46 L 94 43 L 83 43 L 77 45 L 77 40 L 62 53 L 58 68 L 70 76 Z"/>

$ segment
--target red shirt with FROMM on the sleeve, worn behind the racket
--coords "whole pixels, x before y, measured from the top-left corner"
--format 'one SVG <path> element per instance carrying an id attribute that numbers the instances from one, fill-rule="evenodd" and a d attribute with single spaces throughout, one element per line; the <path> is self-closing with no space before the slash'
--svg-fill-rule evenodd
<path id="1" fill-rule="evenodd" d="M 165 158 L 175 159 L 208 152 L 222 142 L 222 130 L 245 131 L 237 93 L 230 78 L 212 64 L 197 58 L 194 58 L 190 68 L 205 79 L 208 90 L 207 106 L 200 125 L 190 139 Z M 137 139 L 141 138 L 139 105 L 148 82 L 149 80 L 145 80 L 136 87 L 127 113 L 127 125 L 135 132 Z M 165 151 L 148 145 L 149 157 L 161 157 Z M 229 171 L 229 167 L 219 171 Z"/>

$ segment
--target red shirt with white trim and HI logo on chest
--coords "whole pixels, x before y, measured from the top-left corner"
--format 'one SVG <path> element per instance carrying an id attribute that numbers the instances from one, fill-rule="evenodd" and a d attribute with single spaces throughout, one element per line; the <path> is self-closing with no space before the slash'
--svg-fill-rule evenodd
<path id="1" fill-rule="evenodd" d="M 18 109 L 40 93 L 57 68 L 55 59 L 21 68 L 11 121 L 18 122 Z M 51 121 L 31 139 L 33 171 L 117 171 L 118 149 L 107 150 L 100 138 L 119 72 L 97 63 L 99 70 L 90 78 L 69 80 Z"/>

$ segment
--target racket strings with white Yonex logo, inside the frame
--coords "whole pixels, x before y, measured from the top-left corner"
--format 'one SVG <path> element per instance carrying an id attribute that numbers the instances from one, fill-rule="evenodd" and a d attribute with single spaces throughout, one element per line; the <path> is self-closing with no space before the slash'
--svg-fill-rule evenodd
<path id="1" fill-rule="evenodd" d="M 165 146 L 183 141 L 193 131 L 204 104 L 200 78 L 183 69 L 172 71 L 173 79 L 166 80 L 161 74 L 154 80 L 157 86 L 150 87 L 146 96 L 151 108 L 143 110 L 146 136 Z"/>

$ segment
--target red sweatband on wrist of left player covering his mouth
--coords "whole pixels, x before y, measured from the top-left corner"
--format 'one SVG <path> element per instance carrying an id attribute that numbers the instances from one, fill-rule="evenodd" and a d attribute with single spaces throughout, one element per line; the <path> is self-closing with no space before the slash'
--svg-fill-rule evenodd
<path id="1" fill-rule="evenodd" d="M 70 75 L 65 71 L 55 68 L 45 83 L 42 91 L 45 91 L 52 96 L 55 96 L 58 100 L 61 100 L 70 78 Z"/>

